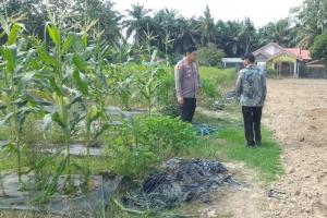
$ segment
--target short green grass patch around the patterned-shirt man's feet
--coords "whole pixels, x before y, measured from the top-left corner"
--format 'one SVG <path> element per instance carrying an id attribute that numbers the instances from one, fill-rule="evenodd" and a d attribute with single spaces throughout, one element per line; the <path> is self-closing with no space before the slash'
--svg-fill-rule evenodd
<path id="1" fill-rule="evenodd" d="M 216 135 L 201 140 L 199 145 L 191 146 L 189 156 L 196 158 L 237 160 L 259 172 L 264 182 L 271 182 L 283 170 L 280 164 L 280 148 L 270 131 L 263 128 L 263 145 L 246 147 L 243 128 L 222 121 Z"/>

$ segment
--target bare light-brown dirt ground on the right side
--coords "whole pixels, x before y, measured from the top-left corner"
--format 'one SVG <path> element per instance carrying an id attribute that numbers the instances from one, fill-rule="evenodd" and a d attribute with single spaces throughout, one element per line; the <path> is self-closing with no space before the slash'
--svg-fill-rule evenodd
<path id="1" fill-rule="evenodd" d="M 327 218 L 327 81 L 268 81 L 264 124 L 280 143 L 286 173 L 265 186 L 232 167 L 252 185 L 219 193 L 202 217 Z"/>

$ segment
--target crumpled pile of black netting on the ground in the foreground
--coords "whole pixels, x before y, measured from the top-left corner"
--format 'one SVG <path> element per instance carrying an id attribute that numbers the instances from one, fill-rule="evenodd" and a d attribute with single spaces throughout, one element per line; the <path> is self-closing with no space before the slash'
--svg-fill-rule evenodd
<path id="1" fill-rule="evenodd" d="M 122 202 L 132 208 L 171 209 L 191 201 L 207 203 L 209 193 L 223 184 L 235 182 L 220 162 L 172 158 L 165 164 L 165 172 L 148 175 L 138 191 Z"/>

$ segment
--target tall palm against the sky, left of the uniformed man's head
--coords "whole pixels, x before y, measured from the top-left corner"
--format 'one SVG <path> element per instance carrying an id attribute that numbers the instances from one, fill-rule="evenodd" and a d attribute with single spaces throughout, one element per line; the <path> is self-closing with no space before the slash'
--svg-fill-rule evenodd
<path id="1" fill-rule="evenodd" d="M 126 10 L 128 20 L 123 21 L 123 27 L 126 28 L 126 38 L 134 35 L 134 40 L 138 44 L 144 34 L 148 31 L 150 24 L 149 12 L 152 10 L 145 9 L 141 4 L 132 4 L 131 10 Z"/>

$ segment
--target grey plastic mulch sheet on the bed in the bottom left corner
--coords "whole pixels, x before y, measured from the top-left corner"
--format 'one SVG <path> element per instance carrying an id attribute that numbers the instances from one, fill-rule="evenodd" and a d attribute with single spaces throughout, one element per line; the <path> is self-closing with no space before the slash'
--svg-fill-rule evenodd
<path id="1" fill-rule="evenodd" d="M 40 191 L 33 190 L 35 175 L 23 175 L 24 186 L 19 187 L 17 174 L 5 174 L 2 179 L 3 195 L 0 196 L 0 209 L 45 211 L 61 216 L 84 215 L 95 217 L 104 215 L 105 205 L 113 195 L 121 177 L 93 175 L 87 180 L 82 175 L 72 174 L 74 194 L 65 194 L 65 175 L 61 175 L 57 185 L 57 193 L 46 203 L 37 204 Z M 86 191 L 86 189 L 88 191 Z M 104 216 L 106 217 L 106 216 Z"/>

